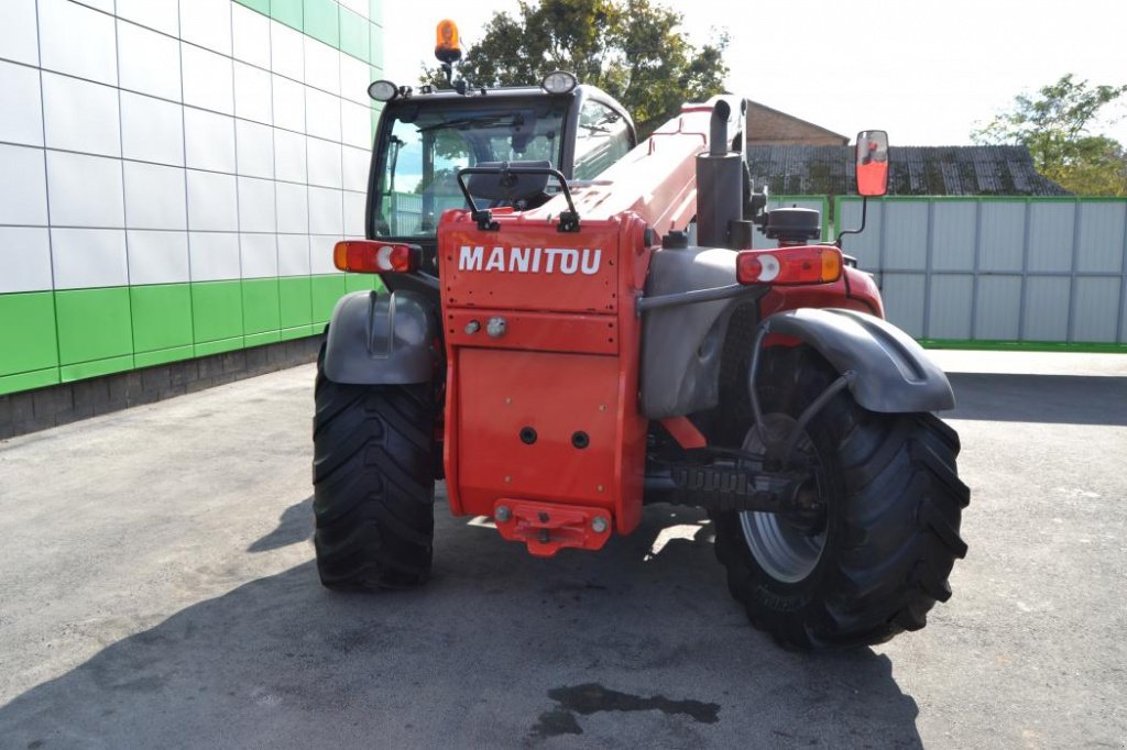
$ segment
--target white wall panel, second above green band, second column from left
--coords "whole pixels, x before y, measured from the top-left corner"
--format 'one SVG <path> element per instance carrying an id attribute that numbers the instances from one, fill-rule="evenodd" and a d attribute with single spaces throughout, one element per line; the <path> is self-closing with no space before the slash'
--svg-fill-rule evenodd
<path id="1" fill-rule="evenodd" d="M 121 160 L 47 151 L 47 187 L 53 226 L 125 226 Z"/>

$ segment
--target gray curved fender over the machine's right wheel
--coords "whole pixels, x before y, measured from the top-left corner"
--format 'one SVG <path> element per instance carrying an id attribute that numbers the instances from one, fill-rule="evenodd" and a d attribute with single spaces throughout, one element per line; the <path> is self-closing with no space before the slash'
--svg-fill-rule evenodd
<path id="1" fill-rule="evenodd" d="M 777 313 L 762 325 L 801 339 L 838 373 L 852 370 L 853 399 L 869 411 L 917 412 L 955 408 L 947 375 L 916 341 L 886 320 L 837 307 Z"/>

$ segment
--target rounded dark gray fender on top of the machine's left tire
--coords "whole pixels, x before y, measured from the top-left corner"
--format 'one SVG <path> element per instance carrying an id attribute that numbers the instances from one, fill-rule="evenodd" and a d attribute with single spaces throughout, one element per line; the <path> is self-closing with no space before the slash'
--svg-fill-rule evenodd
<path id="1" fill-rule="evenodd" d="M 417 292 L 353 292 L 329 321 L 325 375 L 336 383 L 406 385 L 434 380 L 438 318 Z"/>

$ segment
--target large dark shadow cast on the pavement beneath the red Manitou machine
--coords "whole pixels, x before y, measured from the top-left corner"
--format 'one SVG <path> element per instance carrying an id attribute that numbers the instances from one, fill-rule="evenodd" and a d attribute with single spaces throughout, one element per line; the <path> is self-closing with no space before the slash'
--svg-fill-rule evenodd
<path id="1" fill-rule="evenodd" d="M 887 657 L 748 627 L 698 511 L 648 508 L 600 554 L 538 560 L 436 510 L 426 588 L 334 593 L 312 562 L 251 581 L 0 707 L 2 744 L 921 745 Z"/>

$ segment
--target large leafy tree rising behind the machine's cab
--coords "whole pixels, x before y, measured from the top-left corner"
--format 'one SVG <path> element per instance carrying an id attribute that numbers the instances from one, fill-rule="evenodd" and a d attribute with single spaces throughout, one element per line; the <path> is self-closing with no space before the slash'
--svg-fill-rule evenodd
<path id="1" fill-rule="evenodd" d="M 649 0 L 542 0 L 517 17 L 495 12 L 465 52 L 460 74 L 473 86 L 529 86 L 566 70 L 605 90 L 630 111 L 640 137 L 684 101 L 724 91 L 727 33 L 695 47 L 677 30 L 682 15 Z M 425 83 L 445 84 L 438 69 Z"/>

